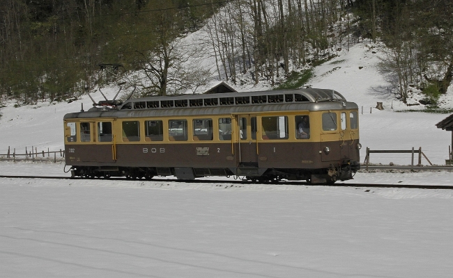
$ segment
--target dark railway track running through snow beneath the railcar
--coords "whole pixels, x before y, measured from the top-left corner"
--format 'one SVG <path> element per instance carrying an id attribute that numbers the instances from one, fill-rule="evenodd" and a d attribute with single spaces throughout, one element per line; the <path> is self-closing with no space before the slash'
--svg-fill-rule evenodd
<path id="1" fill-rule="evenodd" d="M 54 177 L 54 176 L 24 176 L 24 175 L 0 175 L 0 178 L 5 179 L 71 179 L 71 180 L 87 180 L 84 178 L 79 177 Z M 93 180 L 93 179 L 91 179 Z M 145 179 L 125 179 L 123 177 L 112 177 L 109 179 L 98 178 L 94 180 L 99 181 L 146 181 Z M 321 185 L 321 184 L 314 184 L 311 185 L 304 181 L 275 181 L 275 182 L 268 182 L 268 183 L 253 183 L 251 181 L 244 181 L 242 179 L 236 179 L 232 181 L 226 180 L 203 180 L 197 179 L 193 181 L 185 181 L 180 179 L 161 179 L 161 178 L 153 178 L 151 181 L 172 181 L 178 183 L 233 183 L 233 184 L 263 184 L 263 185 L 293 185 L 293 186 L 330 186 L 330 187 L 353 187 L 353 188 L 412 188 L 412 189 L 453 189 L 453 186 L 427 186 L 427 185 L 417 185 L 417 184 L 384 184 L 384 183 L 335 183 L 335 184 L 328 184 L 328 185 Z"/>

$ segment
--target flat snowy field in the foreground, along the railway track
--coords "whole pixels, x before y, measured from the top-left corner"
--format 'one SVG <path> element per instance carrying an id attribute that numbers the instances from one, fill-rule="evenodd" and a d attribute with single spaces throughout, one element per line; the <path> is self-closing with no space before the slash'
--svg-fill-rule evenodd
<path id="1" fill-rule="evenodd" d="M 1 174 L 61 175 L 62 168 L 0 163 Z M 357 176 L 381 183 L 427 178 Z M 0 179 L 0 193 L 0 277 L 413 278 L 453 272 L 451 190 Z"/>

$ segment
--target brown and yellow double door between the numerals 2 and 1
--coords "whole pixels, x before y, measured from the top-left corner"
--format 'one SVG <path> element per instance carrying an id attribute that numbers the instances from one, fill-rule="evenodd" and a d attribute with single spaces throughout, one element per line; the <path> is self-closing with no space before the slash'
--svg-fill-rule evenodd
<path id="1" fill-rule="evenodd" d="M 238 123 L 239 165 L 258 167 L 256 153 L 256 115 L 236 115 Z"/>

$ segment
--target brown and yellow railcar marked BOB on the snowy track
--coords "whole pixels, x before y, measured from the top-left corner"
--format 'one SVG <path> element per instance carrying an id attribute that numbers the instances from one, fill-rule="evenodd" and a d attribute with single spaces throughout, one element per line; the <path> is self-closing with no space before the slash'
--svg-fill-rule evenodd
<path id="1" fill-rule="evenodd" d="M 358 106 L 328 89 L 100 101 L 64 128 L 73 177 L 333 183 L 360 169 Z"/>

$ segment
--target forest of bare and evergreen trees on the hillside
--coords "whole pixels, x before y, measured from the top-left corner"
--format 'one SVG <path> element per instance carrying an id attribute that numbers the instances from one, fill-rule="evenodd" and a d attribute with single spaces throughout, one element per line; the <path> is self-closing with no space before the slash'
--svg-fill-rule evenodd
<path id="1" fill-rule="evenodd" d="M 178 38 L 199 28 L 206 37 L 188 51 Z M 450 0 L 3 0 L 0 101 L 71 99 L 108 83 L 141 96 L 198 92 L 213 76 L 297 87 L 369 40 L 387 46 L 381 67 L 402 101 L 422 90 L 435 103 L 452 81 L 452 32 Z M 215 57 L 215 70 L 185 67 L 192 56 Z"/>

